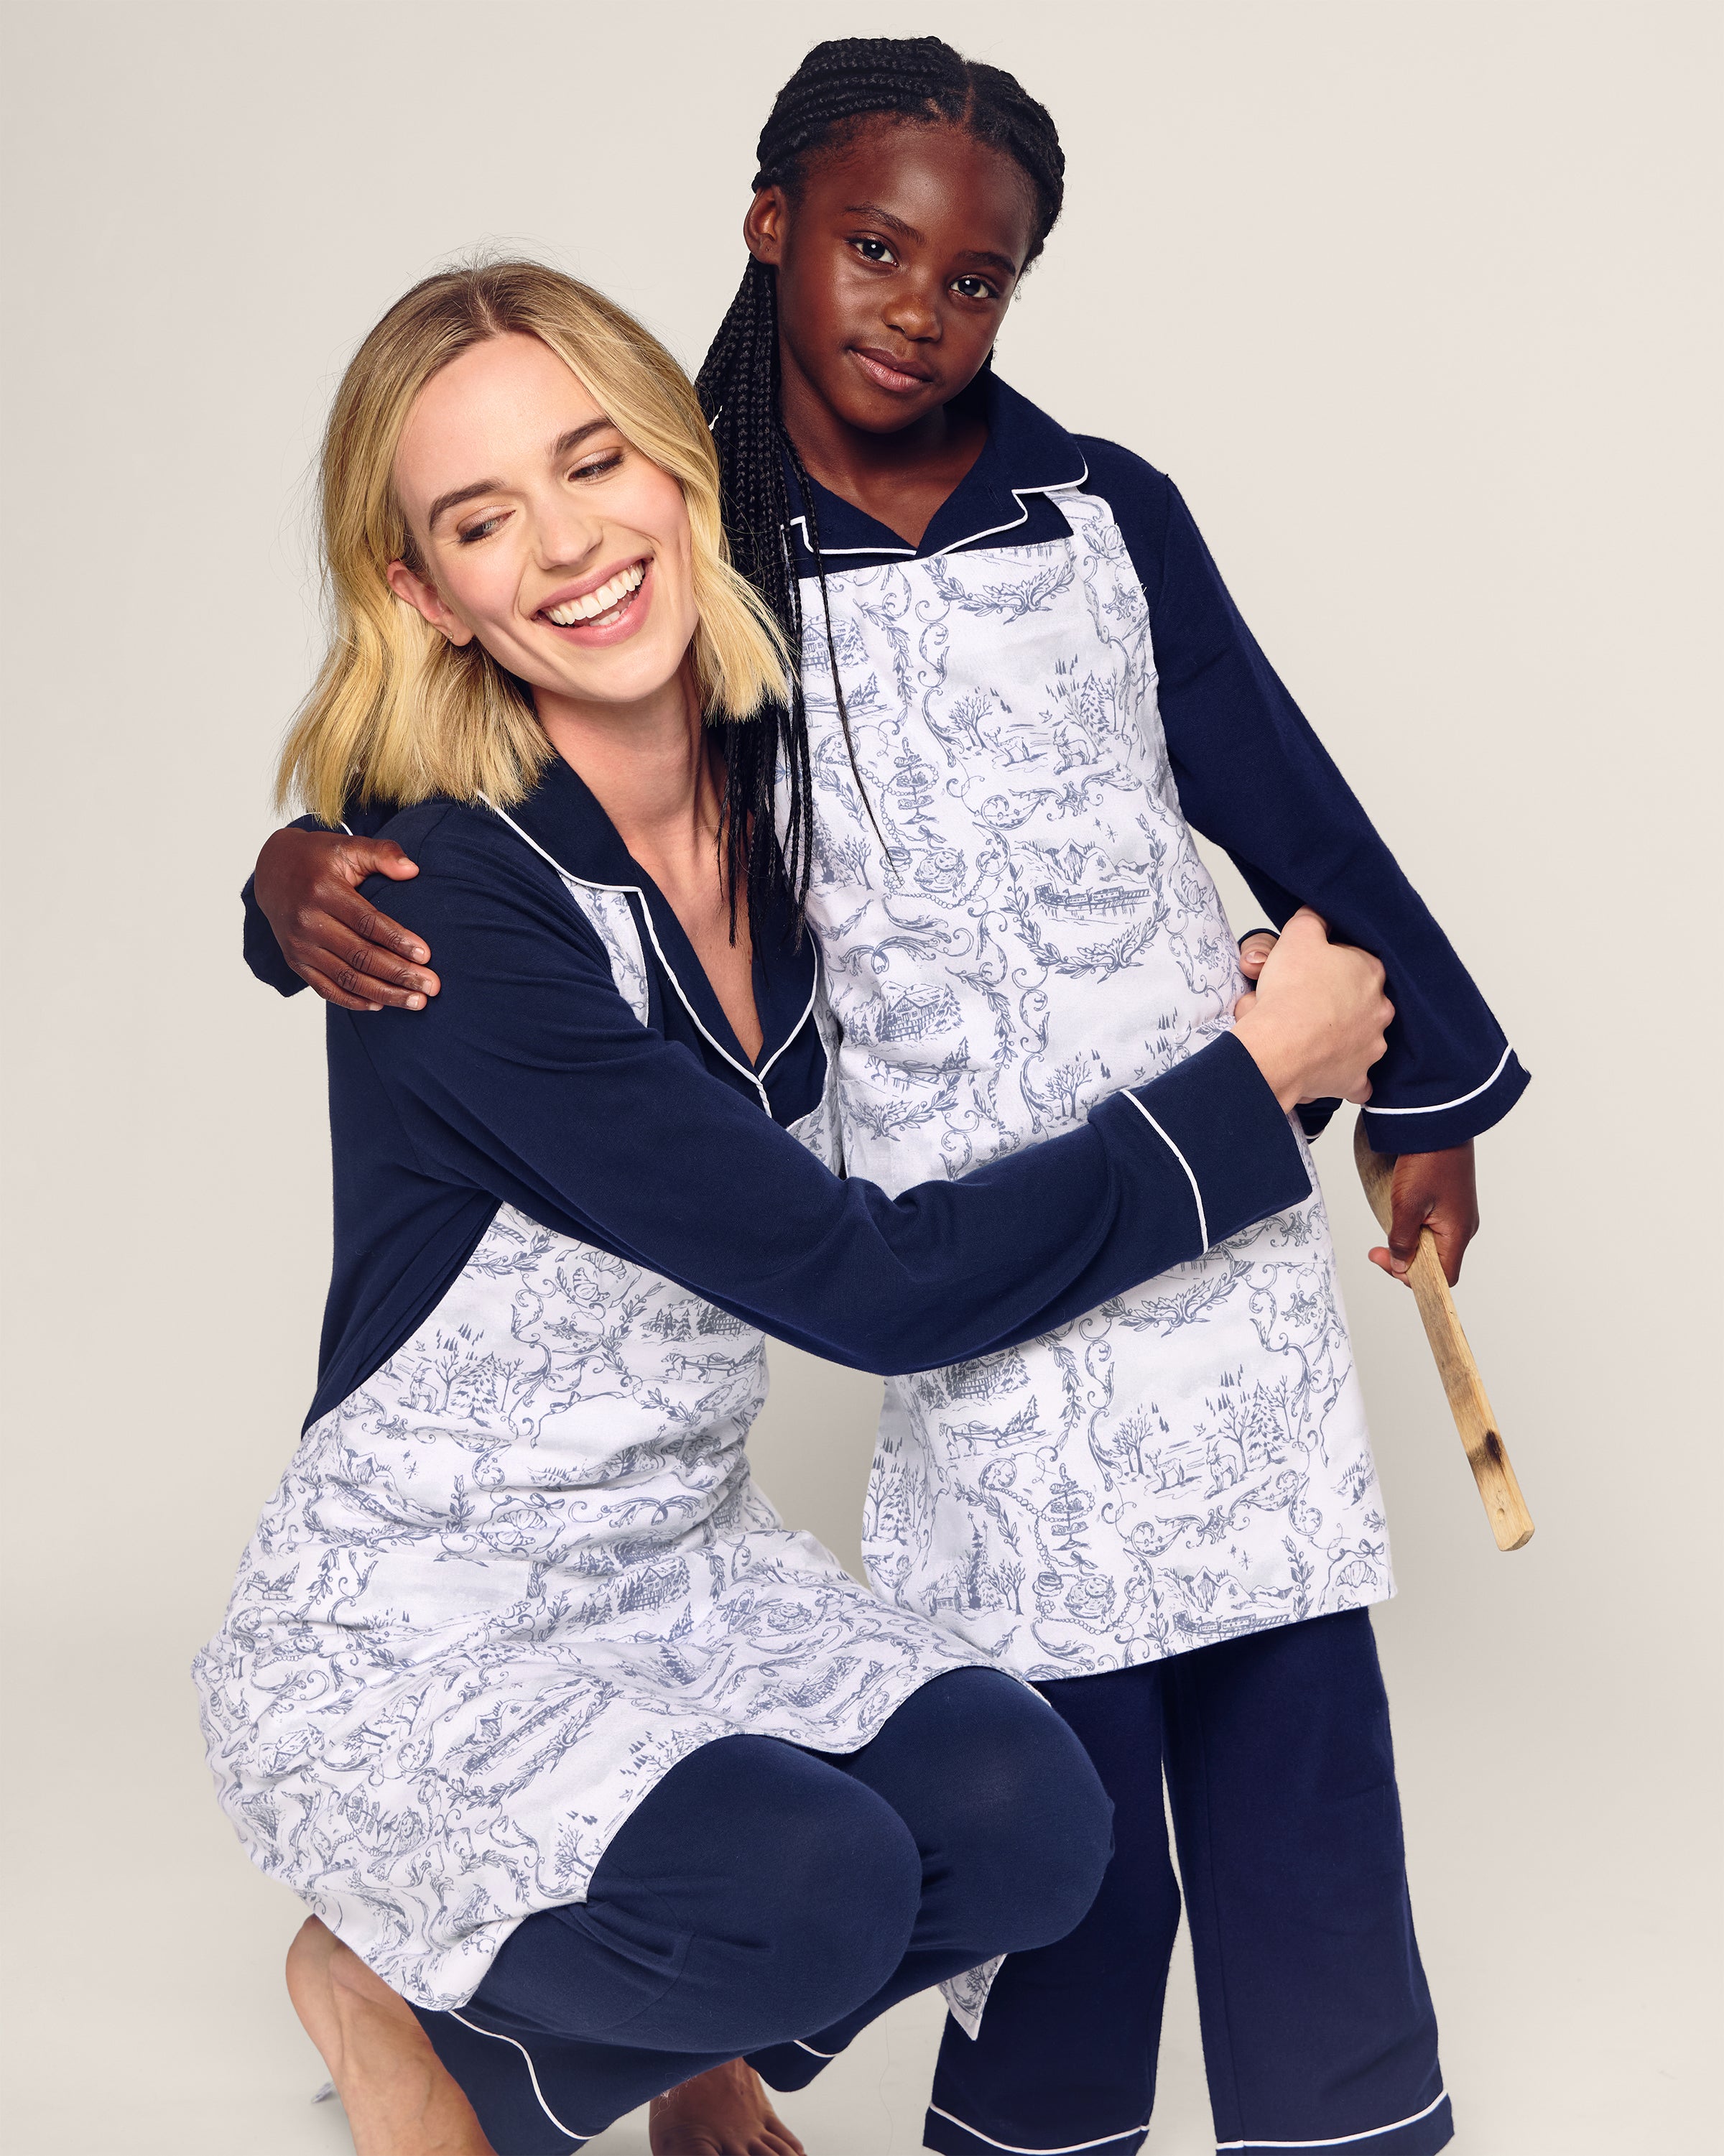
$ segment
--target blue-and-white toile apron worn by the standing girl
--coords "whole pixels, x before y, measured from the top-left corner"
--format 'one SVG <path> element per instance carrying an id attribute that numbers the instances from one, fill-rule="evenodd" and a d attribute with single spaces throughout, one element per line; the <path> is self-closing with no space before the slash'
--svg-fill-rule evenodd
<path id="1" fill-rule="evenodd" d="M 1069 1130 L 1243 987 L 1125 541 L 1099 496 L 1054 500 L 1069 539 L 828 569 L 849 746 L 806 606 L 843 1151 L 892 1192 Z M 1315 1177 L 1041 1341 L 888 1380 L 864 1554 L 886 1602 L 1026 1677 L 1386 1598 Z"/>

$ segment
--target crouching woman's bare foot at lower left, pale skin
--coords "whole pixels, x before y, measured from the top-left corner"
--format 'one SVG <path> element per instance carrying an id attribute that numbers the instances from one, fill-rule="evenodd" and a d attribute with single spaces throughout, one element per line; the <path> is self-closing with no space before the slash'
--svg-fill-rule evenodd
<path id="1" fill-rule="evenodd" d="M 358 2156 L 496 2156 L 414 2009 L 317 1917 L 287 1949 L 287 1994 L 323 2053 Z"/>

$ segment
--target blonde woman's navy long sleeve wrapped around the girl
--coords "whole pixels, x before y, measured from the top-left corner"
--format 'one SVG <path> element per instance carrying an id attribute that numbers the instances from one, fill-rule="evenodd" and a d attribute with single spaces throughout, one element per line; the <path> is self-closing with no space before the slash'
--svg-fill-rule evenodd
<path id="1" fill-rule="evenodd" d="M 442 996 L 330 1018 L 338 1229 L 343 1158 L 362 1175 L 405 1141 L 420 1188 L 487 1192 L 778 1339 L 892 1373 L 1032 1339 L 1310 1188 L 1231 1035 L 955 1181 L 888 1199 L 840 1179 L 642 1026 L 550 871 L 476 826 L 448 811 L 409 843 L 420 875 L 388 886 L 437 953 Z M 353 1216 L 381 1212 L 371 1197 Z"/>

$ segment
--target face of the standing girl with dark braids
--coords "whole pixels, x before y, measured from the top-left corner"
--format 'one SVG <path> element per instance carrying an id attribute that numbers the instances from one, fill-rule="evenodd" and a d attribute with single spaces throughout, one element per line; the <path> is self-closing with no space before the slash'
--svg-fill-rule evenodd
<path id="1" fill-rule="evenodd" d="M 1034 246 L 1034 194 L 961 127 L 868 121 L 812 160 L 795 203 L 756 194 L 743 237 L 778 270 L 780 334 L 823 403 L 896 433 L 993 349 Z"/>

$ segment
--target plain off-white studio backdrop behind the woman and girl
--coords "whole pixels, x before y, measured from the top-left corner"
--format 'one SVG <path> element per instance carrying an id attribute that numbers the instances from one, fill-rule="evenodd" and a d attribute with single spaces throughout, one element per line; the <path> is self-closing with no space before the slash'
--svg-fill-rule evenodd
<path id="1" fill-rule="evenodd" d="M 4 946 L 13 2147 L 338 2150 L 185 1664 L 287 1457 L 321 1028 L 235 888 L 319 645 L 304 476 L 427 267 L 524 244 L 696 362 L 821 34 L 940 30 L 1071 155 L 1002 371 L 1174 472 L 1534 1072 L 1461 1307 L 1500 1557 L 1321 1166 L 1396 1529 L 1379 1623 L 1465 2156 L 1709 2141 L 1720 11 L 1696 0 L 11 6 Z M 1243 921 L 1241 921 L 1243 925 Z M 853 1552 L 877 1388 L 776 1356 L 763 1479 Z M 791 2106 L 918 2141 L 903 2009 Z M 1209 2145 L 1190 2001 L 1155 2156 Z M 603 2147 L 638 2150 L 631 2126 Z"/>

